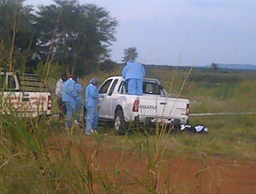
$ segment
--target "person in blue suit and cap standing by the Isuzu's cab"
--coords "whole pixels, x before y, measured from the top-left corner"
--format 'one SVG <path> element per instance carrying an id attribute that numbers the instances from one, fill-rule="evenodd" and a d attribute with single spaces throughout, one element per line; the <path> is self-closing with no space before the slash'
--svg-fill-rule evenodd
<path id="1" fill-rule="evenodd" d="M 86 87 L 86 109 L 87 109 L 87 123 L 86 123 L 86 134 L 96 134 L 98 129 L 98 103 L 99 93 L 97 85 L 99 80 L 92 78 L 90 84 Z"/>

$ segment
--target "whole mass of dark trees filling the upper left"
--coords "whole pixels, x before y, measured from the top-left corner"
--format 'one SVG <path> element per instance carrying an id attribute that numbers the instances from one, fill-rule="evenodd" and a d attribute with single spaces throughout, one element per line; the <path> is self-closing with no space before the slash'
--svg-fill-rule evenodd
<path id="1" fill-rule="evenodd" d="M 55 0 L 33 7 L 23 0 L 0 0 L 0 65 L 44 73 L 50 64 L 79 76 L 112 67 L 109 59 L 118 21 L 103 7 Z"/>

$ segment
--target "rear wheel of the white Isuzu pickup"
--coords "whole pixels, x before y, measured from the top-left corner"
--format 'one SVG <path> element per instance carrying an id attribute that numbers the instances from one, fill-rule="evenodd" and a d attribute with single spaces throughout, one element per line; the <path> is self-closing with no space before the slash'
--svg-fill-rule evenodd
<path id="1" fill-rule="evenodd" d="M 115 127 L 116 132 L 118 132 L 119 135 L 124 135 L 127 133 L 128 124 L 126 121 L 124 121 L 123 110 L 116 110 L 114 127 Z"/>

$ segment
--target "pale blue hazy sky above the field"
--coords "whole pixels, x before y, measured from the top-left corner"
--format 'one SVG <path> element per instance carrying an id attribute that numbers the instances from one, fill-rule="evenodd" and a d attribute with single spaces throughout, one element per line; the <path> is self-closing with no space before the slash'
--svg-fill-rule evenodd
<path id="1" fill-rule="evenodd" d="M 136 47 L 144 64 L 256 65 L 255 0 L 80 0 L 118 20 L 111 59 Z M 50 0 L 28 0 L 46 5 Z"/>

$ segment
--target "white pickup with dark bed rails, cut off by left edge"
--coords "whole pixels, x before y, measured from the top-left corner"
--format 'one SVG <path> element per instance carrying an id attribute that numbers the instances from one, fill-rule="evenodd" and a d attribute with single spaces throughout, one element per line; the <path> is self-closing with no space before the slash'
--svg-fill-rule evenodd
<path id="1" fill-rule="evenodd" d="M 0 115 L 35 118 L 50 115 L 49 89 L 34 74 L 0 72 Z"/>

